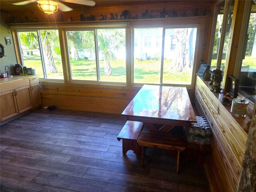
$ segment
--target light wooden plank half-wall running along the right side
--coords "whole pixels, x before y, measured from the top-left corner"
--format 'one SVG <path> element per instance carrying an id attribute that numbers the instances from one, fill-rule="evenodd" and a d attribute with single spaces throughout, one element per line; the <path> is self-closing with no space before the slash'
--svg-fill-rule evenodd
<path id="1" fill-rule="evenodd" d="M 236 192 L 247 134 L 198 76 L 195 107 L 212 128 L 212 154 L 204 164 L 211 191 Z"/>

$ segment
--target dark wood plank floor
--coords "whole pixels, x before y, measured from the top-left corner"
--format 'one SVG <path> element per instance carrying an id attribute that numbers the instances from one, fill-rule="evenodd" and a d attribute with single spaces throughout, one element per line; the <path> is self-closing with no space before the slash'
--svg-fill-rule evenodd
<path id="1" fill-rule="evenodd" d="M 116 139 L 121 115 L 36 110 L 0 127 L 1 192 L 208 192 L 196 162 L 149 148 L 145 167 Z"/>

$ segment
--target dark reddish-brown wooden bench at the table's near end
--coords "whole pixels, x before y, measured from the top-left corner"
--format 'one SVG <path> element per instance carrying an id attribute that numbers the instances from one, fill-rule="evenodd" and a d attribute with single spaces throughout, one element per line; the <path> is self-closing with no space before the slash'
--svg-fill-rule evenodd
<path id="1" fill-rule="evenodd" d="M 185 142 L 183 136 L 160 134 L 152 132 L 140 132 L 137 140 L 138 144 L 142 146 L 142 166 L 144 166 L 144 156 L 146 151 L 144 147 L 155 147 L 166 150 L 174 150 L 178 152 L 177 156 L 177 169 L 179 169 L 180 151 L 185 150 Z"/>

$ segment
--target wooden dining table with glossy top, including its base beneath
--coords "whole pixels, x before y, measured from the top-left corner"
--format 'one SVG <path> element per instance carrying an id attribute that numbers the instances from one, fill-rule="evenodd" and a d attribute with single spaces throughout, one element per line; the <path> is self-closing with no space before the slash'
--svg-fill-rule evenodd
<path id="1" fill-rule="evenodd" d="M 143 122 L 150 132 L 158 133 L 196 122 L 186 87 L 144 85 L 122 115 L 127 120 Z"/>

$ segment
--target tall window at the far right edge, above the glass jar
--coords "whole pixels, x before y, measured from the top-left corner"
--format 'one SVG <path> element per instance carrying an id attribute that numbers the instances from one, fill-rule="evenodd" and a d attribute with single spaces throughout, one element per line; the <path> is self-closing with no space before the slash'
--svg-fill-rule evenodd
<path id="1" fill-rule="evenodd" d="M 238 93 L 252 102 L 256 101 L 256 5 L 251 1 L 251 11 L 247 28 L 247 46 L 244 48 Z"/>

